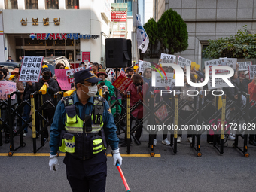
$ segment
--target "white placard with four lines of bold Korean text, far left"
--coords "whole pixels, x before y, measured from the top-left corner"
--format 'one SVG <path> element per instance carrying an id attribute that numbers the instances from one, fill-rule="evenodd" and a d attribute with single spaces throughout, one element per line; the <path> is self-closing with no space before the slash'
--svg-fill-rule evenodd
<path id="1" fill-rule="evenodd" d="M 24 56 L 19 81 L 38 82 L 44 56 Z"/>

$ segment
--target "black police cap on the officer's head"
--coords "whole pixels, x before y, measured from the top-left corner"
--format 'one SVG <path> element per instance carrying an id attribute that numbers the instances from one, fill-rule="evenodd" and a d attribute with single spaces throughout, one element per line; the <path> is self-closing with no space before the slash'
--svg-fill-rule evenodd
<path id="1" fill-rule="evenodd" d="M 79 72 L 74 73 L 75 78 L 75 84 L 81 82 L 81 81 L 88 81 L 90 83 L 97 83 L 98 81 L 101 81 L 101 78 L 97 78 L 96 75 L 94 75 L 92 69 L 83 69 Z"/>

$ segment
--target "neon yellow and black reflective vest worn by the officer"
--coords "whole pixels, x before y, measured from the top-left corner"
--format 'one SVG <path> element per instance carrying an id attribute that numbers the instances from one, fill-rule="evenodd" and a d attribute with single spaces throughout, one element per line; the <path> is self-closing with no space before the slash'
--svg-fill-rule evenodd
<path id="1" fill-rule="evenodd" d="M 105 134 L 103 131 L 104 123 L 102 121 L 104 100 L 99 100 L 96 98 L 93 99 L 93 102 L 93 109 L 98 108 L 99 110 L 102 107 L 102 114 L 97 113 L 96 117 L 93 117 L 93 115 L 88 116 L 89 119 L 87 118 L 84 121 L 78 117 L 77 111 L 75 110 L 75 105 L 72 104 L 65 107 L 65 132 L 62 134 L 62 145 L 59 147 L 60 151 L 68 152 L 77 157 L 87 159 L 106 149 Z M 99 124 L 96 124 L 97 117 L 99 117 Z"/>

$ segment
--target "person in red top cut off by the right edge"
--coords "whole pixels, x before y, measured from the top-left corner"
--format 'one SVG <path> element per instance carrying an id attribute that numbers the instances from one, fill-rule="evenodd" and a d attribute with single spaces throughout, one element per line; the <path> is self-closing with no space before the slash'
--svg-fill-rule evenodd
<path id="1" fill-rule="evenodd" d="M 256 101 L 256 76 L 254 76 L 253 80 L 251 81 L 251 83 L 248 84 L 248 93 L 250 95 L 250 102 L 251 100 Z M 252 102 L 251 105 L 254 105 L 254 103 Z M 250 123 L 256 123 L 255 121 L 252 122 L 252 120 L 256 117 L 256 107 L 254 107 L 251 110 L 250 113 Z M 249 135 L 249 144 L 256 146 L 256 135 L 255 134 L 250 134 Z"/>

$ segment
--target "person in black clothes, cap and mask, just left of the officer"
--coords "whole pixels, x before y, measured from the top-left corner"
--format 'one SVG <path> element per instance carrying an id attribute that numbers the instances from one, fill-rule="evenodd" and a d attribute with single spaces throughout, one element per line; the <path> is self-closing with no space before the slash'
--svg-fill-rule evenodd
<path id="1" fill-rule="evenodd" d="M 49 101 L 51 103 L 54 103 L 54 94 L 59 91 L 59 87 L 57 84 L 57 81 L 55 81 L 53 78 L 51 78 L 51 72 L 50 69 L 47 67 L 44 67 L 41 69 L 41 75 L 42 78 L 39 79 L 38 82 L 32 85 L 31 81 L 28 81 L 27 84 L 29 84 L 30 93 L 34 93 L 35 91 L 38 91 L 41 89 L 41 87 L 45 84 L 47 86 L 47 93 L 43 95 L 43 103 L 46 101 Z M 39 103 L 39 106 L 41 106 L 41 103 Z M 54 116 L 55 107 L 53 105 L 46 105 L 46 107 L 43 110 L 43 115 L 45 119 L 50 120 Z M 44 122 L 44 125 L 47 122 Z M 44 130 L 42 133 L 44 137 L 44 142 L 47 142 L 47 138 L 49 136 L 48 130 Z"/>

